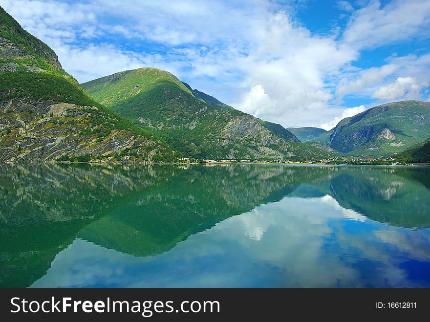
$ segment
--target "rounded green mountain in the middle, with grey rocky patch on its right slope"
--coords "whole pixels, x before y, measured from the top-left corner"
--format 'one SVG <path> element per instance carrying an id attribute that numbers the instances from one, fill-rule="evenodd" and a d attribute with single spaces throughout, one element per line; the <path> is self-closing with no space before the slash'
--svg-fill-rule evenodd
<path id="1" fill-rule="evenodd" d="M 190 86 L 164 70 L 126 70 L 82 86 L 95 101 L 162 136 L 175 150 L 194 158 L 303 160 L 308 157 L 312 160 L 330 157 L 318 148 L 286 140 L 252 115 L 212 106 L 204 101 L 202 97 L 206 100 L 208 97 L 202 94 L 197 95 L 200 99 L 196 98 Z M 210 102 L 215 104 L 214 100 Z"/>

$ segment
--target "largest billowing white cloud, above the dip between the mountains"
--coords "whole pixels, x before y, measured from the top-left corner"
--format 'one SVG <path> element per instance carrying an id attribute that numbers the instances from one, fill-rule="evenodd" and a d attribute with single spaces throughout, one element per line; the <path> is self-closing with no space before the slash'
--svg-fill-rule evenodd
<path id="1" fill-rule="evenodd" d="M 243 86 L 254 90 L 246 91 L 233 106 L 258 111 L 259 117 L 285 126 L 321 120 L 331 98 L 331 85 L 325 79 L 354 59 L 356 53 L 338 46 L 334 38 L 312 36 L 307 29 L 295 28 L 283 12 L 258 29 L 258 48 L 242 62 L 247 74 Z M 250 102 L 256 86 L 264 89 L 270 102 L 267 98 Z"/>

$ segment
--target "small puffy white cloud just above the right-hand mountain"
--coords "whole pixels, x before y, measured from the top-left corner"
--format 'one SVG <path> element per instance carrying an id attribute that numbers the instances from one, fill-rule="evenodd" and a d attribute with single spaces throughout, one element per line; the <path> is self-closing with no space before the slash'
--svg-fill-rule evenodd
<path id="1" fill-rule="evenodd" d="M 418 96 L 419 90 L 423 86 L 416 84 L 416 79 L 410 76 L 399 77 L 393 84 L 381 86 L 376 90 L 372 97 L 382 100 L 394 100 L 398 97 L 404 96 L 406 93 L 409 96 Z"/>

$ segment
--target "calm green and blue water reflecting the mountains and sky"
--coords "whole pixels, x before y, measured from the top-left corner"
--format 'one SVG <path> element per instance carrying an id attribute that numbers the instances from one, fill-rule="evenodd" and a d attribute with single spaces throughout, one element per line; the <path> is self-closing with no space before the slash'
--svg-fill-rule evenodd
<path id="1" fill-rule="evenodd" d="M 2 287 L 430 287 L 430 169 L 0 164 Z"/>

